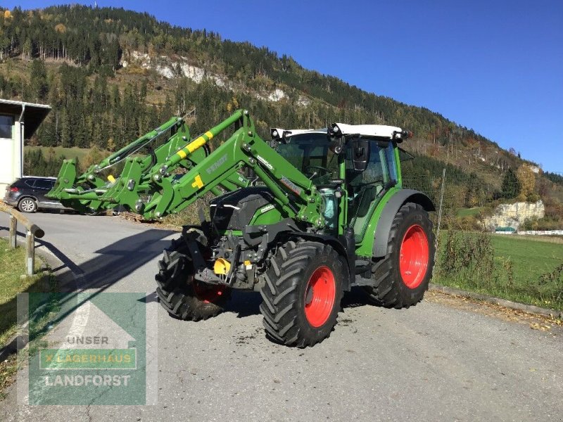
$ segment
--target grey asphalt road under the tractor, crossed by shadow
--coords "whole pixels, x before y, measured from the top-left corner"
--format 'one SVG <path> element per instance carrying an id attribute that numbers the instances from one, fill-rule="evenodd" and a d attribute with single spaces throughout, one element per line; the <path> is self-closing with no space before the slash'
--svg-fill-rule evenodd
<path id="1" fill-rule="evenodd" d="M 170 231 L 118 217 L 36 214 L 81 288 L 152 292 Z M 0 213 L 0 236 L 7 218 Z M 69 277 L 72 276 L 72 277 Z M 258 293 L 198 323 L 158 307 L 158 402 L 151 406 L 18 405 L 1 421 L 561 421 L 563 332 L 532 330 L 468 307 L 424 300 L 410 309 L 344 300 L 330 338 L 305 350 L 271 343 Z"/>

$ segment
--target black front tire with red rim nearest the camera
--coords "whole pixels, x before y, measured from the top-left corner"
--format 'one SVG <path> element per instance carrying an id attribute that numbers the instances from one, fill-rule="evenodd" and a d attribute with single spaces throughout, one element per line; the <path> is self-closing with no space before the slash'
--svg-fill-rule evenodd
<path id="1" fill-rule="evenodd" d="M 267 336 L 297 347 L 329 337 L 341 309 L 346 271 L 346 263 L 330 245 L 289 241 L 279 247 L 260 291 Z"/>

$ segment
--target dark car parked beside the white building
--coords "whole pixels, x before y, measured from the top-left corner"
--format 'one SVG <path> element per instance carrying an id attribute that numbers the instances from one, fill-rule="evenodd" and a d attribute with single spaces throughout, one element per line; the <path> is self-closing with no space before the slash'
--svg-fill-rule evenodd
<path id="1" fill-rule="evenodd" d="M 6 187 L 4 202 L 18 207 L 21 212 L 35 212 L 41 208 L 66 210 L 66 208 L 51 198 L 46 198 L 55 184 L 55 177 L 22 177 Z"/>

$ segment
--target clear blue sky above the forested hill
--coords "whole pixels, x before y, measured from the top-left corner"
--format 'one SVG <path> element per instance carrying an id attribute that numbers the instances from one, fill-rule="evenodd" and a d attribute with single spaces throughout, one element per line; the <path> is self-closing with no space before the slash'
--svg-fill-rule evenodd
<path id="1" fill-rule="evenodd" d="M 4 1 L 37 8 L 58 1 Z M 94 4 L 94 1 L 79 1 Z M 108 1 L 424 106 L 563 172 L 563 1 Z"/>

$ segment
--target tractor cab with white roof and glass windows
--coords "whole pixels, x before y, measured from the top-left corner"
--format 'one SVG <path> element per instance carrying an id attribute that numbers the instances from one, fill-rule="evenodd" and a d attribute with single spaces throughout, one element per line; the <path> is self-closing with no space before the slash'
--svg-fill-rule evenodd
<path id="1" fill-rule="evenodd" d="M 317 186 L 327 227 L 354 229 L 355 241 L 386 191 L 400 186 L 397 143 L 409 132 L 379 124 L 332 124 L 329 129 L 272 129 L 276 151 Z M 340 226 L 340 228 L 339 228 Z"/>

